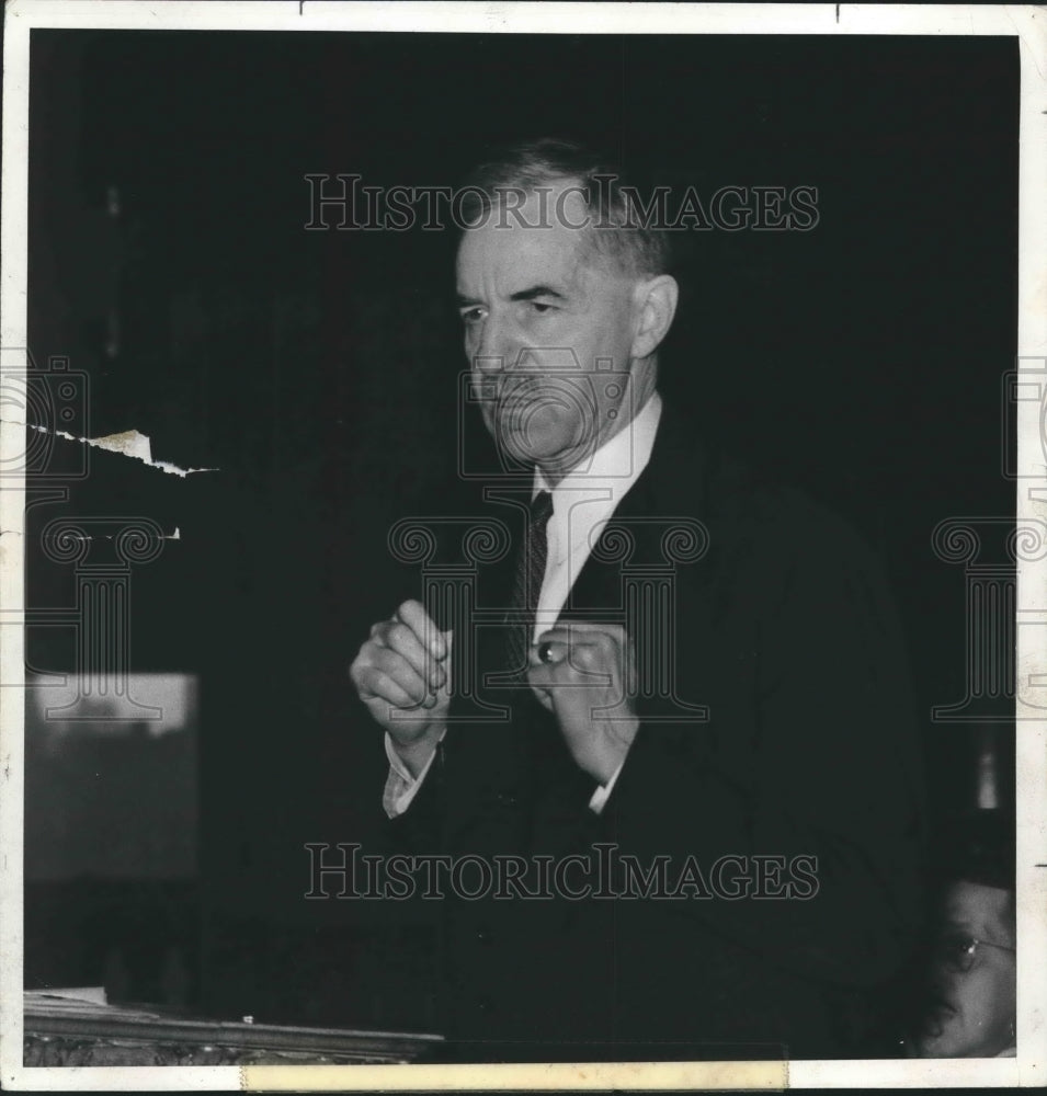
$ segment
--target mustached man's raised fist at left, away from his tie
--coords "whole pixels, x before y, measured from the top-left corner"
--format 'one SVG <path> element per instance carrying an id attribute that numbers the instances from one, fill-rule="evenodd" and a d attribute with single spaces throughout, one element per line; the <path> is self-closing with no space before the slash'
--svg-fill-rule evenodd
<path id="1" fill-rule="evenodd" d="M 371 638 L 349 667 L 375 721 L 418 776 L 447 726 L 451 704 L 449 631 L 440 631 L 420 602 L 405 602 Z"/>

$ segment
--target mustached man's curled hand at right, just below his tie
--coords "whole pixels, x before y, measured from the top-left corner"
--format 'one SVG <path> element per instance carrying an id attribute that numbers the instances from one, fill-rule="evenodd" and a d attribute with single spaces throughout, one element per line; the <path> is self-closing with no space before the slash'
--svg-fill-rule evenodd
<path id="1" fill-rule="evenodd" d="M 573 620 L 557 625 L 531 649 L 527 681 L 556 716 L 578 766 L 606 784 L 640 726 L 630 700 L 636 660 L 625 629 Z"/>

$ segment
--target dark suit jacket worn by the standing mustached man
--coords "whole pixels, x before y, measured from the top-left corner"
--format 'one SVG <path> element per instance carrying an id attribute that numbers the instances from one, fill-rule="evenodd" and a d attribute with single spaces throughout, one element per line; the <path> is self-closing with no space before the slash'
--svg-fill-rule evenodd
<path id="1" fill-rule="evenodd" d="M 675 518 L 697 520 L 708 541 L 667 572 Z M 507 604 L 509 571 L 491 569 L 481 604 Z M 880 570 L 843 522 L 706 454 L 667 409 L 561 618 L 621 610 L 626 587 L 664 591 L 667 573 L 671 597 L 652 595 L 634 635 L 641 664 L 660 646 L 602 814 L 530 689 L 481 689 L 510 698 L 511 718 L 459 726 L 453 703 L 428 779 L 391 823 L 397 842 L 532 863 L 604 843 L 645 867 L 668 857 L 670 880 L 688 855 L 703 876 L 724 856 L 750 875 L 756 856 L 812 857 L 817 892 L 445 899 L 442 1015 L 462 1060 L 870 1052 L 870 1001 L 907 961 L 921 901 L 919 747 Z M 498 643 L 476 646 L 481 677 L 500 669 Z M 651 676 L 667 658 L 673 695 Z M 693 715 L 681 701 L 708 718 L 681 719 Z"/>

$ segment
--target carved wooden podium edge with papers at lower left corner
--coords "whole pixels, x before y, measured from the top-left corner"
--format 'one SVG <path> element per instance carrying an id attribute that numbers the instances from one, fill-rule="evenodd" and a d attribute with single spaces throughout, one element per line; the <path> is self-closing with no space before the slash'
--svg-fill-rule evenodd
<path id="1" fill-rule="evenodd" d="M 27 992 L 24 1003 L 26 1066 L 390 1064 L 424 1058 L 443 1042 L 436 1035 L 191 1019 L 107 1005 L 101 991 Z"/>

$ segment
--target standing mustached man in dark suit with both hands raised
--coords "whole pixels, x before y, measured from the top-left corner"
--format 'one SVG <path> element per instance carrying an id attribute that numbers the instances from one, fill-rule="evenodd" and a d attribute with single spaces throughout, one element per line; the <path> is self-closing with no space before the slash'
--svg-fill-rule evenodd
<path id="1" fill-rule="evenodd" d="M 447 1034 L 478 1061 L 870 1053 L 920 906 L 879 570 L 662 406 L 678 287 L 621 176 L 540 141 L 474 187 L 465 349 L 528 469 L 487 494 L 516 548 L 475 620 L 504 624 L 406 602 L 351 667 L 398 847 L 498 868 L 442 898 Z"/>

